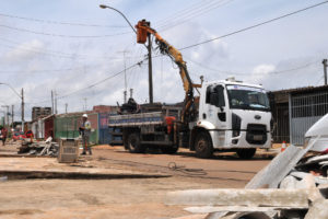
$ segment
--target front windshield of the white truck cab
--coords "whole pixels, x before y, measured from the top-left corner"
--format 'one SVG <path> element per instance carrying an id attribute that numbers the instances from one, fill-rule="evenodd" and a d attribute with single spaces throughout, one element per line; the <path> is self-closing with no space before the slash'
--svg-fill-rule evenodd
<path id="1" fill-rule="evenodd" d="M 263 89 L 245 85 L 226 85 L 231 108 L 270 111 L 267 93 Z"/>

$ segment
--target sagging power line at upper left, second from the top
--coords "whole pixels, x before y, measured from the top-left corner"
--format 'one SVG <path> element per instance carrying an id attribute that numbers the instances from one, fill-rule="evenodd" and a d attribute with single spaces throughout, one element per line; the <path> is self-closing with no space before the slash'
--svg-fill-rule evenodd
<path id="1" fill-rule="evenodd" d="M 37 34 L 37 35 L 45 35 L 45 36 L 66 37 L 66 38 L 102 38 L 102 37 L 119 36 L 119 35 L 125 35 L 125 34 L 132 33 L 132 32 L 124 32 L 124 33 L 116 33 L 116 34 L 110 34 L 110 35 L 82 36 L 82 35 L 63 35 L 63 34 L 37 32 L 37 31 L 27 30 L 27 28 L 8 26 L 8 25 L 3 25 L 3 24 L 0 24 L 0 27 L 10 28 L 10 30 L 14 30 L 14 31 L 17 31 L 17 32 L 25 32 L 25 33 Z"/>

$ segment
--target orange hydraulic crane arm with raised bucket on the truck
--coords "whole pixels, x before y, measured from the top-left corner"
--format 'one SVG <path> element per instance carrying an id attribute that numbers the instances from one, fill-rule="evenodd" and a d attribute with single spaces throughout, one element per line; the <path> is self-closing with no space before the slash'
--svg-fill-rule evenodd
<path id="1" fill-rule="evenodd" d="M 184 110 L 181 113 L 181 122 L 187 123 L 190 122 L 190 115 L 192 114 L 195 108 L 195 96 L 194 96 L 194 88 L 201 88 L 201 84 L 195 84 L 191 81 L 191 78 L 187 70 L 186 61 L 183 59 L 181 53 L 176 49 L 174 46 L 168 44 L 165 39 L 160 36 L 160 34 L 150 27 L 150 22 L 145 20 L 141 20 L 136 25 L 137 28 L 137 43 L 144 44 L 147 42 L 147 37 L 149 34 L 155 37 L 155 43 L 159 45 L 159 48 L 162 54 L 167 55 L 174 60 L 174 62 L 179 68 L 179 73 L 183 80 L 184 90 L 185 90 L 185 101 L 184 101 Z"/>

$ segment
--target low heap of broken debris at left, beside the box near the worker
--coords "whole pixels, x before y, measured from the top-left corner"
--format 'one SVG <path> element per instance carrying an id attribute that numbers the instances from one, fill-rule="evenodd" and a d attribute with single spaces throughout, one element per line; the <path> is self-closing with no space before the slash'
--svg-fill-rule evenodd
<path id="1" fill-rule="evenodd" d="M 23 140 L 17 153 L 26 153 L 28 155 L 50 155 L 58 157 L 59 145 L 49 137 L 45 141 Z"/>

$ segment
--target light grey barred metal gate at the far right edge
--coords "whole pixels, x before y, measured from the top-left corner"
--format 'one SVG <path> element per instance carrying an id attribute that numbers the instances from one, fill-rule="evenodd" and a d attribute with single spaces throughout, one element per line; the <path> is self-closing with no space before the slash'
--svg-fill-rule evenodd
<path id="1" fill-rule="evenodd" d="M 303 145 L 307 129 L 328 113 L 328 91 L 291 94 L 290 112 L 291 142 Z"/>

